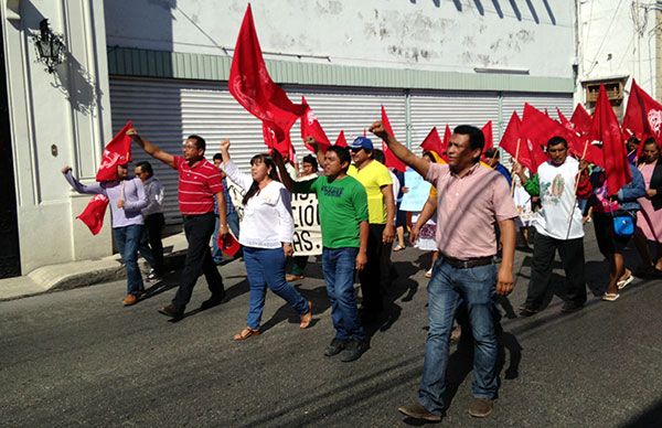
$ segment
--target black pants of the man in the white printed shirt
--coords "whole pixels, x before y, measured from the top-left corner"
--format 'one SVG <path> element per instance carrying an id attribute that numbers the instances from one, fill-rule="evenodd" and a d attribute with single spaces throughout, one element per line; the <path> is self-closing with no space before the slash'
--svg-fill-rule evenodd
<path id="1" fill-rule="evenodd" d="M 558 249 L 560 263 L 566 274 L 566 301 L 576 304 L 586 303 L 586 277 L 584 274 L 584 238 L 555 239 L 541 233 L 535 234 L 533 242 L 533 266 L 525 304 L 538 309 L 543 303 L 549 280 L 552 264 Z"/>

